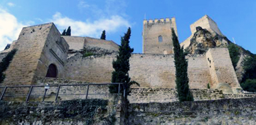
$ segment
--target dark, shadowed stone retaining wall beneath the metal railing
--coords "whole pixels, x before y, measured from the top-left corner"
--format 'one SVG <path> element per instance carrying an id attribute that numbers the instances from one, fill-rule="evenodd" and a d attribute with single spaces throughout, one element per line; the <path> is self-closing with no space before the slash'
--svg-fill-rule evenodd
<path id="1" fill-rule="evenodd" d="M 0 101 L 1 125 L 27 124 L 120 124 L 120 97 L 113 100 L 61 102 Z"/>

